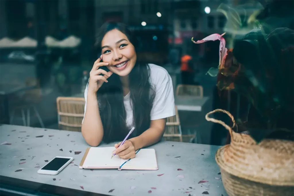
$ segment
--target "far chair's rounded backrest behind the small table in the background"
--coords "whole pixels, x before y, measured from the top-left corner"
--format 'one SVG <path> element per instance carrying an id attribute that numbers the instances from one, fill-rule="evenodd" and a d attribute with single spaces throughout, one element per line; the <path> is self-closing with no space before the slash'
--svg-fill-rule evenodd
<path id="1" fill-rule="evenodd" d="M 176 95 L 191 95 L 202 98 L 203 97 L 203 87 L 197 85 L 185 85 L 179 84 L 177 86 Z"/>

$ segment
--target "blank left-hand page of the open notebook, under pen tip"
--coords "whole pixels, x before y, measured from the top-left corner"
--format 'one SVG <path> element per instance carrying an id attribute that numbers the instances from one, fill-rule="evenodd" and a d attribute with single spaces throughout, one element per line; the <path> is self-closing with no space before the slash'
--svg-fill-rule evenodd
<path id="1" fill-rule="evenodd" d="M 114 147 L 91 147 L 84 161 L 83 167 L 119 167 L 121 158 L 111 158 Z"/>

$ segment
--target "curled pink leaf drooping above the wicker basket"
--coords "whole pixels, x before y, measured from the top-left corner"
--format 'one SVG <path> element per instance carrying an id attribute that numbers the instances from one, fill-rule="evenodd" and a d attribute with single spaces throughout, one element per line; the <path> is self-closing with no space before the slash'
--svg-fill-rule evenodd
<path id="1" fill-rule="evenodd" d="M 219 47 L 219 68 L 223 68 L 225 56 L 227 56 L 228 49 L 225 47 L 225 38 L 223 38 L 223 33 L 222 35 L 218 33 L 214 33 L 212 35 L 207 36 L 206 38 L 203 38 L 202 40 L 194 41 L 192 37 L 193 43 L 204 43 L 206 41 L 216 41 L 220 40 L 220 47 Z"/>

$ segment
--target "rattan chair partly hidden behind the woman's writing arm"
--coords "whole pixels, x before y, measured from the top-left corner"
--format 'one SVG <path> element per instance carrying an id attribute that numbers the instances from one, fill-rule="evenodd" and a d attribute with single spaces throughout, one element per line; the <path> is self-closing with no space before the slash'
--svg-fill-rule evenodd
<path id="1" fill-rule="evenodd" d="M 165 141 L 182 142 L 182 130 L 177 106 L 175 107 L 176 115 L 168 117 L 166 120 L 166 129 L 163 135 Z"/>

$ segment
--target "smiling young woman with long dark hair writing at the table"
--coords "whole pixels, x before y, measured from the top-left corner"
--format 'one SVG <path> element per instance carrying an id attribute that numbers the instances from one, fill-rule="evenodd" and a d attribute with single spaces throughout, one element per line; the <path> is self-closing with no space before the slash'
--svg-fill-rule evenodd
<path id="1" fill-rule="evenodd" d="M 136 44 L 124 24 L 103 24 L 96 38 L 101 56 L 85 89 L 82 135 L 89 145 L 122 141 L 135 127 L 123 145 L 115 144 L 113 153 L 124 159 L 160 141 L 166 118 L 175 115 L 170 75 L 160 66 L 140 61 Z"/>

